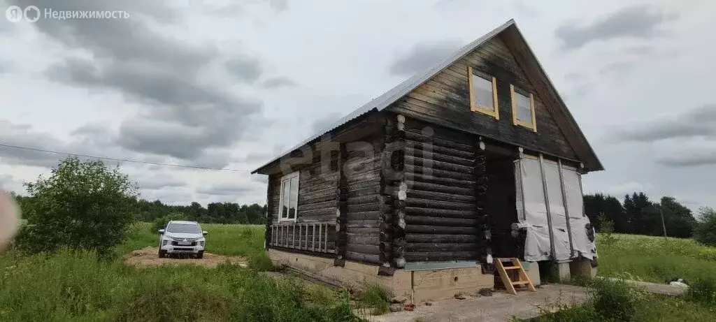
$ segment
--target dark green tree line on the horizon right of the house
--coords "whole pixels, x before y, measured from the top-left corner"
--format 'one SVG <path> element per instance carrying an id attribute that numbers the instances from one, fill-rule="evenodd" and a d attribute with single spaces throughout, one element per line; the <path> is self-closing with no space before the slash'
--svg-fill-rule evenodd
<path id="1" fill-rule="evenodd" d="M 664 235 L 666 226 L 669 237 L 690 238 L 698 224 L 691 210 L 674 197 L 652 201 L 644 192 L 624 195 L 622 202 L 601 193 L 584 195 L 584 211 L 597 231 L 603 220 L 609 220 L 614 233 Z"/>

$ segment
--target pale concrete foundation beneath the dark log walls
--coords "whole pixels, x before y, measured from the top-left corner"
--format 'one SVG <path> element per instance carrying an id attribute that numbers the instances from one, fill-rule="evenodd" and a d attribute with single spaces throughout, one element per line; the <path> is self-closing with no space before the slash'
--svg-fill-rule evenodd
<path id="1" fill-rule="evenodd" d="M 346 261 L 344 267 L 334 266 L 333 258 L 268 250 L 276 264 L 283 264 L 320 276 L 347 287 L 361 288 L 376 284 L 407 301 L 437 301 L 453 298 L 455 294 L 475 294 L 481 288 L 494 288 L 492 274 L 483 274 L 480 265 L 470 268 L 445 268 L 439 270 L 395 270 L 392 276 L 379 276 L 377 265 Z"/>

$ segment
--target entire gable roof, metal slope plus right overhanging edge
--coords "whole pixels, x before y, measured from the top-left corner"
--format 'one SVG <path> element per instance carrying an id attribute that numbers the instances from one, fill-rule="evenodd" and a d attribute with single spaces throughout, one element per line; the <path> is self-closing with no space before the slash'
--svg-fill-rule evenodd
<path id="1" fill-rule="evenodd" d="M 529 48 L 529 45 L 524 39 L 524 36 L 517 28 L 516 22 L 514 21 L 514 19 L 510 19 L 504 24 L 498 26 L 487 34 L 484 34 L 480 38 L 476 39 L 474 42 L 471 42 L 470 44 L 465 45 L 465 47 L 458 49 L 456 52 L 453 52 L 453 54 L 450 54 L 449 57 L 445 57 L 445 59 L 440 60 L 440 62 L 438 62 L 434 66 L 425 69 L 425 71 L 415 74 L 408 79 L 405 79 L 405 81 L 401 82 L 400 84 L 397 84 L 396 87 L 393 87 L 379 97 L 372 99 L 370 102 L 367 102 L 362 107 L 359 107 L 353 112 L 347 114 L 345 117 L 342 117 L 342 119 L 339 119 L 332 125 L 322 128 L 321 130 L 316 132 L 316 134 L 311 135 L 311 137 L 299 143 L 298 145 L 291 147 L 291 149 L 284 151 L 283 153 L 281 153 L 281 155 L 275 157 L 269 162 L 266 162 L 266 164 L 262 165 L 261 167 L 258 167 L 258 169 L 253 170 L 253 172 L 251 173 L 253 174 L 263 170 L 263 168 L 268 167 L 269 165 L 278 161 L 281 157 L 284 157 L 284 155 L 287 155 L 294 150 L 298 150 L 300 147 L 303 147 L 304 145 L 307 145 L 319 139 L 319 137 L 321 137 L 322 135 L 325 135 L 328 132 L 332 132 L 338 127 L 342 127 L 342 125 L 345 125 L 348 122 L 357 119 L 358 117 L 362 117 L 364 114 L 367 114 L 372 111 L 382 111 L 383 109 L 390 107 L 391 104 L 397 102 L 398 99 L 401 99 L 408 93 L 412 92 L 413 89 L 419 87 L 422 83 L 427 82 L 428 79 L 432 78 L 437 73 L 442 72 L 443 69 L 448 68 L 451 64 L 457 62 L 459 59 L 463 58 L 470 52 L 473 52 L 473 50 L 477 49 L 482 44 L 485 44 L 485 42 L 488 42 L 488 40 L 492 39 L 495 36 L 498 36 L 499 34 L 502 34 L 505 31 L 508 31 L 509 34 L 511 34 L 511 36 L 513 37 L 516 36 L 516 39 L 514 40 L 517 42 L 517 44 L 513 45 L 517 45 L 516 47 L 522 47 L 521 49 L 523 51 L 523 54 L 526 54 L 527 56 L 516 57 L 516 59 L 518 59 L 518 62 L 520 62 L 521 60 L 523 60 L 523 62 L 530 61 L 532 63 L 531 67 L 533 67 L 533 69 L 536 69 L 535 71 L 533 71 L 534 73 L 528 73 L 528 79 L 530 79 L 531 82 L 539 81 L 543 84 L 546 84 L 546 86 L 543 86 L 542 88 L 536 86 L 536 89 L 540 92 L 543 92 L 540 95 L 541 97 L 545 94 L 553 97 L 553 99 L 548 100 L 549 103 L 558 105 L 556 107 L 549 108 L 550 112 L 552 112 L 552 114 L 555 114 L 554 112 L 560 112 L 558 113 L 558 117 L 556 117 L 556 122 L 558 122 L 560 128 L 563 131 L 566 130 L 565 135 L 566 137 L 568 137 L 568 139 L 571 137 L 571 135 L 576 136 L 574 138 L 571 138 L 572 140 L 569 140 L 569 144 L 572 145 L 577 155 L 583 160 L 584 167 L 586 168 L 586 170 L 604 170 L 604 167 L 601 166 L 599 158 L 596 157 L 594 150 L 591 148 L 591 146 L 589 146 L 589 142 L 586 141 L 586 137 L 584 137 L 584 134 L 581 132 L 579 126 L 576 124 L 574 117 L 572 117 L 571 113 L 569 112 L 569 109 L 567 109 L 566 107 L 566 104 L 564 104 L 559 94 L 557 94 L 556 89 L 554 88 L 554 85 L 552 84 L 551 80 L 549 80 L 546 72 L 544 72 L 544 69 L 542 68 L 541 64 L 538 62 L 536 56 L 532 52 L 532 49 Z M 508 47 L 510 47 L 509 44 Z M 516 47 L 510 47 L 510 49 L 513 50 L 516 49 Z M 551 104 L 547 105 L 550 106 Z M 576 149 L 575 145 L 582 145 L 585 148 Z"/>

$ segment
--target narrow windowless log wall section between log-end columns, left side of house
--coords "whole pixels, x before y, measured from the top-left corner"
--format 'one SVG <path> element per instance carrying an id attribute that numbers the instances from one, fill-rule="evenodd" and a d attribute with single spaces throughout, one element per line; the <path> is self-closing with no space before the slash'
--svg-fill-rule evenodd
<path id="1" fill-rule="evenodd" d="M 372 135 L 346 144 L 347 260 L 379 264 L 380 140 Z"/>

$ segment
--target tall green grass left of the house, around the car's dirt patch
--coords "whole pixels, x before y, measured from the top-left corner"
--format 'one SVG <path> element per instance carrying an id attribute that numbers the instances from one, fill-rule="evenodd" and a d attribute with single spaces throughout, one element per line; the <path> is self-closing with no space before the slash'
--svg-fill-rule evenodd
<path id="1" fill-rule="evenodd" d="M 132 227 L 118 254 L 158 244 L 150 223 Z M 92 252 L 0 255 L 0 321 L 357 321 L 347 292 L 269 278 L 263 226 L 202 225 L 207 251 L 251 258 L 252 268 L 133 268 Z M 269 267 L 270 260 L 268 261 Z"/>

